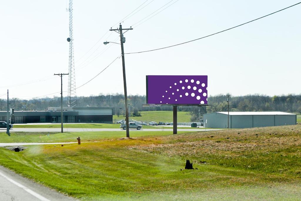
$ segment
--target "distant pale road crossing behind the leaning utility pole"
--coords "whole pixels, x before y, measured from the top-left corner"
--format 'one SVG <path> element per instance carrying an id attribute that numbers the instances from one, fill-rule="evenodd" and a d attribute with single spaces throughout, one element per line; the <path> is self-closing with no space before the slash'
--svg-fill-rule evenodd
<path id="1" fill-rule="evenodd" d="M 64 132 L 83 132 L 83 131 L 122 131 L 120 128 L 64 128 Z M 212 131 L 220 129 L 178 129 L 178 131 Z M 125 131 L 125 130 L 123 130 Z M 130 129 L 130 131 L 161 131 L 161 129 Z M 164 129 L 164 131 L 172 131 L 172 129 Z M 6 129 L 0 129 L 0 132 L 6 132 Z M 13 128 L 9 132 L 61 132 L 61 128 Z"/>

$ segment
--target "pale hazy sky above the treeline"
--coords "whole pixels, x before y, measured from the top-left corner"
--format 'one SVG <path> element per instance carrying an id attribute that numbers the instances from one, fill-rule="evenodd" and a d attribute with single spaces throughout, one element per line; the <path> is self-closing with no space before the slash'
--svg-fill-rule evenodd
<path id="1" fill-rule="evenodd" d="M 103 45 L 104 41 L 119 42 L 118 34 L 108 30 L 145 1 L 73 0 L 76 86 L 90 80 L 121 54 L 119 45 Z M 144 5 L 141 6 L 136 14 L 124 20 L 123 28 L 129 28 L 170 1 L 148 0 L 144 5 L 149 5 L 138 11 Z M 164 11 L 133 26 L 124 35 L 124 49 L 125 52 L 144 51 L 200 38 L 298 2 L 173 0 L 168 4 L 173 5 L 162 8 L 166 8 Z M 228 92 L 234 96 L 299 94 L 300 11 L 301 5 L 296 5 L 195 42 L 125 55 L 128 94 L 146 93 L 145 75 L 208 75 L 209 96 Z M 0 22 L 0 96 L 7 89 L 10 97 L 20 99 L 60 91 L 60 77 L 53 74 L 68 73 L 66 1 L 1 1 Z M 65 76 L 64 91 L 67 86 Z M 77 96 L 100 93 L 123 93 L 121 58 L 76 90 Z"/>

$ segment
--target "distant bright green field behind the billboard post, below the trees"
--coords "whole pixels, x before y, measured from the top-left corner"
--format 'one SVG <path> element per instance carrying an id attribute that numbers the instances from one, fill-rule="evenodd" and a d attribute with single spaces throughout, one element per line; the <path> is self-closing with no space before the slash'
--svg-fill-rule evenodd
<path id="1" fill-rule="evenodd" d="M 141 111 L 141 117 L 131 117 L 136 121 L 172 122 L 172 111 Z M 178 122 L 190 122 L 190 112 L 178 111 Z M 122 116 L 113 115 L 113 121 L 125 119 Z"/>

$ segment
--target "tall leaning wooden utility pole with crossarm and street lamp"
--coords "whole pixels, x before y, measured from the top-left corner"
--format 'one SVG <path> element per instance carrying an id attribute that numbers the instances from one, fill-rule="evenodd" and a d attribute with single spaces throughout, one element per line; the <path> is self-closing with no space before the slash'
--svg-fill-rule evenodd
<path id="1" fill-rule="evenodd" d="M 122 56 L 122 71 L 123 71 L 123 88 L 124 88 L 124 100 L 126 105 L 126 137 L 130 137 L 129 132 L 129 110 L 128 110 L 128 95 L 126 90 L 126 64 L 124 61 L 124 50 L 123 50 L 123 43 L 126 42 L 126 38 L 123 37 L 123 30 L 132 30 L 132 27 L 129 29 L 123 29 L 122 25 L 119 25 L 119 29 L 110 29 L 110 31 L 119 31 L 117 33 L 120 34 L 120 45 L 121 45 L 121 56 Z"/>

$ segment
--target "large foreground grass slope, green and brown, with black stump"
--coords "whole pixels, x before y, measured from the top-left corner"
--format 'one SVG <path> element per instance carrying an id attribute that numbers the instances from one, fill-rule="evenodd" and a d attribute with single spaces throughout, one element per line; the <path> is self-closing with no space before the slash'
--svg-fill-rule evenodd
<path id="1" fill-rule="evenodd" d="M 80 200 L 298 200 L 300 129 L 132 132 L 133 140 L 119 140 L 125 134 L 119 131 L 56 133 L 42 140 L 82 135 L 101 142 L 27 146 L 23 152 L 1 148 L 0 165 Z M 23 134 L 12 138 L 37 141 L 42 135 Z M 1 142 L 9 141 L 5 135 Z M 181 171 L 186 159 L 198 169 Z"/>

